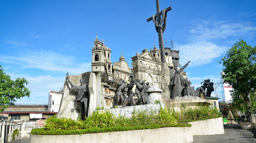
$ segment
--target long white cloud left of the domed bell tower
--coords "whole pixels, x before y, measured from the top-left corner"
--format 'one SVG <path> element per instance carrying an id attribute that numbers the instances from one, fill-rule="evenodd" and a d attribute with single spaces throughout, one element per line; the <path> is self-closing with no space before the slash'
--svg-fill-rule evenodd
<path id="1" fill-rule="evenodd" d="M 81 74 L 91 69 L 91 63 L 80 62 L 73 56 L 65 56 L 51 51 L 33 51 L 15 56 L 0 56 L 5 63 L 18 64 L 21 68 L 34 68 L 52 72 Z"/>

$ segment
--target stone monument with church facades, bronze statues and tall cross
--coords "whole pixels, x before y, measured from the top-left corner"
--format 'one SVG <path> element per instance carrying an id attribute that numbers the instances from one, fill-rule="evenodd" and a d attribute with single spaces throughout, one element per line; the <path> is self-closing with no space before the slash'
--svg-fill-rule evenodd
<path id="1" fill-rule="evenodd" d="M 157 112 L 164 107 L 178 109 L 184 103 L 190 107 L 214 104 L 200 98 L 200 93 L 210 96 L 213 83 L 205 80 L 195 92 L 183 71 L 190 61 L 180 67 L 179 51 L 163 47 L 167 12 L 172 8 L 160 11 L 159 1 L 156 3 L 157 13 L 147 21 L 152 20 L 156 26 L 159 49 L 154 45 L 150 51 L 137 52 L 131 57 L 130 68 L 122 52 L 119 61 L 112 62 L 111 48 L 106 47 L 105 41 L 101 42 L 96 34 L 92 47 L 92 71 L 67 74 L 57 117 L 85 119 L 95 109 L 109 109 L 116 116 L 129 117 L 134 109 Z"/>

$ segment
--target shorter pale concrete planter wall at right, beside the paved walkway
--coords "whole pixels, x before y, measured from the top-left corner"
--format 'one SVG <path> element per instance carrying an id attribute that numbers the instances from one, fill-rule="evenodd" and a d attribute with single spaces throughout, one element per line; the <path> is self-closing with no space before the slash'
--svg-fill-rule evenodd
<path id="1" fill-rule="evenodd" d="M 216 135 L 224 134 L 223 120 L 222 117 L 198 120 L 189 122 L 192 125 L 191 131 L 193 135 Z"/>

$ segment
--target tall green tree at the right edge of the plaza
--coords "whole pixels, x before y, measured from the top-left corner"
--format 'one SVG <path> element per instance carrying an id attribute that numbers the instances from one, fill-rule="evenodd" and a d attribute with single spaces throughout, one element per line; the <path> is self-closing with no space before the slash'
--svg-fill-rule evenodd
<path id="1" fill-rule="evenodd" d="M 232 106 L 250 114 L 255 111 L 256 90 L 256 46 L 247 45 L 243 40 L 234 43 L 222 58 L 224 82 L 234 88 Z M 253 107 L 253 108 L 252 108 Z"/>

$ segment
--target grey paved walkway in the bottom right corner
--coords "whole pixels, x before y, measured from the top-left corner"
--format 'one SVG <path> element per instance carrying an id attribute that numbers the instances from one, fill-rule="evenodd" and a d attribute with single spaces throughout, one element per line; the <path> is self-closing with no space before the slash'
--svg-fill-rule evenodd
<path id="1" fill-rule="evenodd" d="M 255 142 L 252 132 L 242 130 L 237 124 L 224 125 L 225 134 L 194 136 L 194 143 L 198 142 Z"/>

